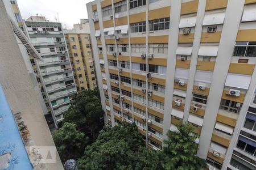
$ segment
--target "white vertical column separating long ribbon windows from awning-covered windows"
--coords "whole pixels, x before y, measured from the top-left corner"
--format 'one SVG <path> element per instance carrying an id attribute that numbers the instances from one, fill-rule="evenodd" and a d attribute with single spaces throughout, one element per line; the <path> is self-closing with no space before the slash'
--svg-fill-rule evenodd
<path id="1" fill-rule="evenodd" d="M 167 139 L 166 133 L 168 130 L 170 130 L 171 126 L 172 94 L 174 93 L 176 49 L 179 38 L 180 10 L 181 0 L 172 0 L 168 40 L 166 94 L 164 96 L 163 139 Z"/>

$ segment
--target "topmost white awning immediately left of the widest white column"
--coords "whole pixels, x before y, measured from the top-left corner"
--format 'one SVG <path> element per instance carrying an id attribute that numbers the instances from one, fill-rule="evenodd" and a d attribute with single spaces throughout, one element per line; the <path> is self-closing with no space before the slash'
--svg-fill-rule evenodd
<path id="1" fill-rule="evenodd" d="M 223 24 L 225 19 L 225 12 L 205 14 L 203 25 L 217 25 Z"/>

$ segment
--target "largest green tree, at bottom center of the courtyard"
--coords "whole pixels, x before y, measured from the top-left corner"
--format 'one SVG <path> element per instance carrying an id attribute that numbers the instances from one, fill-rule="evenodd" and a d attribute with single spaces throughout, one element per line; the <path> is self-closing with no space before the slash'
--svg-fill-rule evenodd
<path id="1" fill-rule="evenodd" d="M 155 160 L 153 160 L 155 159 Z M 152 162 L 151 162 L 152 161 Z M 79 169 L 159 169 L 156 151 L 146 150 L 135 124 L 106 127 L 97 140 L 85 148 Z"/>

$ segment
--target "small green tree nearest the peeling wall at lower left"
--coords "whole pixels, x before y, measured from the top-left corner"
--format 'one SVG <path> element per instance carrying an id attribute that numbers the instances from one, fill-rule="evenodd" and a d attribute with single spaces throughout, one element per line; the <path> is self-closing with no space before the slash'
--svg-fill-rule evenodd
<path id="1" fill-rule="evenodd" d="M 76 130 L 75 124 L 65 122 L 59 130 L 53 132 L 52 137 L 62 162 L 82 156 L 86 138 L 84 133 Z"/>

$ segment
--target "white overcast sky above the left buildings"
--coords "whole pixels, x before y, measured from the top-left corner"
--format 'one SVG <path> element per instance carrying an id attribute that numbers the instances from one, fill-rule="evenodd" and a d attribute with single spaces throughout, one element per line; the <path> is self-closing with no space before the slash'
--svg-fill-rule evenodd
<path id="1" fill-rule="evenodd" d="M 17 0 L 20 13 L 23 19 L 31 15 L 42 15 L 55 22 L 57 13 L 63 27 L 73 28 L 73 24 L 80 22 L 80 19 L 88 19 L 86 3 L 93 0 Z"/>

